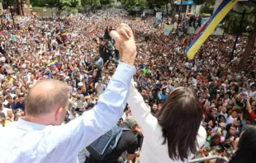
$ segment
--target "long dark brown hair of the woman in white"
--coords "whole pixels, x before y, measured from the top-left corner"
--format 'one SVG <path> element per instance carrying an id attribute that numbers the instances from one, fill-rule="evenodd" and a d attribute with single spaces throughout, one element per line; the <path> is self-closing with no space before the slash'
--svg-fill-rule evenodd
<path id="1" fill-rule="evenodd" d="M 197 94 L 188 87 L 174 90 L 156 114 L 172 160 L 185 161 L 197 152 L 197 133 L 202 119 Z"/>

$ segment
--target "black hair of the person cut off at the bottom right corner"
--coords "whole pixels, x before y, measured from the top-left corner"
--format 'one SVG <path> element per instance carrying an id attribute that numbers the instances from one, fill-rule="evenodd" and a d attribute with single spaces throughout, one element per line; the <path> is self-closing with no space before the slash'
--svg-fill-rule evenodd
<path id="1" fill-rule="evenodd" d="M 256 127 L 248 126 L 242 133 L 238 150 L 235 152 L 235 156 L 232 157 L 230 163 L 250 163 L 255 162 L 256 153 Z"/>

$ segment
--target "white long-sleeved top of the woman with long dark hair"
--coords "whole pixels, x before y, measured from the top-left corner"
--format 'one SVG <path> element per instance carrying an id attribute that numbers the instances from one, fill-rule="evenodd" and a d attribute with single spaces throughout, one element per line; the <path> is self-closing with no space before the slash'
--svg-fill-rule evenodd
<path id="1" fill-rule="evenodd" d="M 183 161 L 173 161 L 168 156 L 168 144 L 164 144 L 163 132 L 158 120 L 150 114 L 150 109 L 145 105 L 145 101 L 140 93 L 130 84 L 130 94 L 128 104 L 132 115 L 142 128 L 144 140 L 140 151 L 140 162 L 142 163 L 183 163 Z M 206 130 L 200 126 L 197 134 L 198 150 L 206 142 Z M 188 156 L 188 161 L 193 155 Z M 187 162 L 187 161 L 185 161 Z"/>

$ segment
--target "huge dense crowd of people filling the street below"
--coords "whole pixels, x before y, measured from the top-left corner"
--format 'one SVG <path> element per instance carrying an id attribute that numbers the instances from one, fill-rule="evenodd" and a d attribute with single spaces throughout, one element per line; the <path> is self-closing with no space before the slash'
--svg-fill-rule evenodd
<path id="1" fill-rule="evenodd" d="M 199 97 L 204 112 L 201 125 L 207 133 L 206 143 L 195 158 L 217 155 L 230 159 L 244 128 L 256 122 L 256 49 L 244 71 L 239 72 L 236 66 L 244 52 L 244 38 L 239 39 L 231 62 L 232 35 L 224 40 L 211 36 L 196 57 L 188 60 L 184 51 L 193 35 L 182 35 L 178 40 L 175 35 L 164 35 L 162 28 L 154 28 L 154 18 L 142 21 L 105 15 L 62 21 L 21 16 L 15 26 L 2 17 L 0 128 L 26 115 L 26 95 L 40 80 L 58 79 L 69 85 L 72 93 L 66 123 L 97 105 L 119 61 L 109 33 L 124 22 L 133 30 L 137 45 L 135 86 L 151 114 L 158 115 L 176 88 L 192 88 Z M 130 130 L 123 133 L 122 143 L 107 158 L 140 162 L 143 135 L 129 105 L 120 123 L 128 124 Z M 86 149 L 79 152 L 81 163 L 88 157 Z"/>

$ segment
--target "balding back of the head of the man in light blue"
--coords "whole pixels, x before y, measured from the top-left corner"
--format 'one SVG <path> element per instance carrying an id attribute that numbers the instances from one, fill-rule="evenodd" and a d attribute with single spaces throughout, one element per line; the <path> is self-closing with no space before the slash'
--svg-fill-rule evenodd
<path id="1" fill-rule="evenodd" d="M 69 86 L 62 81 L 38 81 L 26 96 L 26 114 L 50 114 L 59 107 L 69 105 L 69 94 Z"/>

